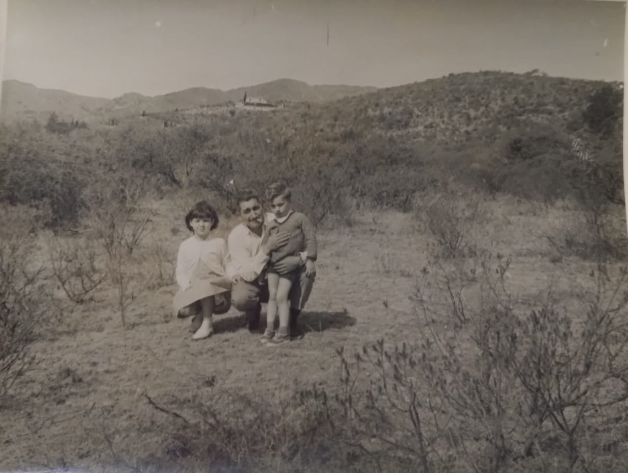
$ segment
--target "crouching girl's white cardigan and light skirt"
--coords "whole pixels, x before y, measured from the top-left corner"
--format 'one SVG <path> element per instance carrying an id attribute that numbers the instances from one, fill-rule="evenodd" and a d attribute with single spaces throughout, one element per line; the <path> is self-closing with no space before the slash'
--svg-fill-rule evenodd
<path id="1" fill-rule="evenodd" d="M 197 304 L 198 301 L 215 296 L 214 314 L 224 314 L 231 305 L 231 278 L 227 276 L 229 264 L 227 242 L 222 238 L 200 240 L 190 236 L 181 243 L 176 257 L 175 279 L 179 285 L 173 299 L 173 312 Z M 185 316 L 193 315 L 200 307 L 191 307 Z"/>

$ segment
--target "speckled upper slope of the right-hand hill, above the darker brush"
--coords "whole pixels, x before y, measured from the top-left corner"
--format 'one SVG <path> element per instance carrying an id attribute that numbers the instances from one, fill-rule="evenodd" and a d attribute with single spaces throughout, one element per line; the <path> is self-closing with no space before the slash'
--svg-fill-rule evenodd
<path id="1" fill-rule="evenodd" d="M 468 139 L 492 142 L 522 122 L 579 129 L 590 95 L 604 85 L 543 75 L 460 73 L 286 109 L 271 117 L 247 114 L 232 120 L 251 120 L 245 128 L 273 129 L 284 137 L 375 132 L 443 144 Z M 233 125 L 241 129 L 241 124 Z"/>

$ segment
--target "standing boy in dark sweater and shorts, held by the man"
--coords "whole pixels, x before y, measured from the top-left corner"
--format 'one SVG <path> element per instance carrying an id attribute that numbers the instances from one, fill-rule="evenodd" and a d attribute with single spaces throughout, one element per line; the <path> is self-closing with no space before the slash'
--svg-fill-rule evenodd
<path id="1" fill-rule="evenodd" d="M 315 272 L 317 258 L 317 240 L 314 225 L 303 213 L 295 212 L 292 208 L 292 193 L 283 183 L 275 183 L 266 190 L 266 201 L 274 214 L 269 221 L 266 231 L 271 235 L 277 231 L 288 231 L 290 240 L 283 247 L 270 255 L 266 269 L 268 275 L 268 306 L 266 307 L 266 331 L 261 337 L 262 343 L 273 346 L 287 341 L 290 337 L 290 300 L 289 294 L 292 285 L 297 282 L 303 270 L 301 267 L 292 272 L 280 274 L 275 264 L 286 256 L 306 253 L 305 274 L 310 276 Z M 275 318 L 279 312 L 279 330 L 274 331 Z"/>

